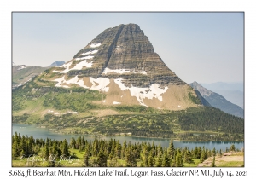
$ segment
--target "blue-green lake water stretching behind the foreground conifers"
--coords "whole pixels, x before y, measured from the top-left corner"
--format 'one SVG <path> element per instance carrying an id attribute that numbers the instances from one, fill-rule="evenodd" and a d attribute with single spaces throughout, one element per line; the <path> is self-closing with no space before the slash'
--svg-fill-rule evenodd
<path id="1" fill-rule="evenodd" d="M 79 136 L 84 136 L 84 140 L 93 141 L 95 136 L 92 135 L 67 135 L 67 134 L 58 134 L 52 131 L 47 130 L 47 128 L 40 128 L 37 125 L 28 125 L 28 124 L 13 124 L 13 134 L 15 132 L 20 133 L 20 136 L 33 136 L 35 139 L 42 138 L 46 139 L 55 139 L 55 140 L 64 140 L 71 141 L 71 138 L 78 138 Z M 131 143 L 138 143 L 138 142 L 149 142 L 152 143 L 154 141 L 155 145 L 161 144 L 162 147 L 168 147 L 170 139 L 157 139 L 157 138 L 146 138 L 146 137 L 134 137 L 134 136 L 101 136 L 100 139 L 102 140 L 110 140 L 114 138 L 115 140 L 119 140 L 120 143 L 123 143 L 125 140 L 127 143 L 131 141 Z M 174 147 L 189 147 L 189 149 L 195 147 L 205 147 L 208 149 L 212 149 L 215 147 L 216 150 L 225 150 L 226 147 L 230 148 L 232 144 L 235 145 L 236 148 L 243 148 L 244 142 L 243 141 L 173 141 Z"/>

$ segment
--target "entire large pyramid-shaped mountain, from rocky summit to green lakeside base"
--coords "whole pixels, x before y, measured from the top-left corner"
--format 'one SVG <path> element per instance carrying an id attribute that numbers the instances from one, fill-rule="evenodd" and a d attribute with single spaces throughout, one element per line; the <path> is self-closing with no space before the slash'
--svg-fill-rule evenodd
<path id="1" fill-rule="evenodd" d="M 12 92 L 13 123 L 62 134 L 243 140 L 244 120 L 210 107 L 135 24 L 106 29 L 73 59 Z M 195 131 L 207 132 L 195 138 Z"/>

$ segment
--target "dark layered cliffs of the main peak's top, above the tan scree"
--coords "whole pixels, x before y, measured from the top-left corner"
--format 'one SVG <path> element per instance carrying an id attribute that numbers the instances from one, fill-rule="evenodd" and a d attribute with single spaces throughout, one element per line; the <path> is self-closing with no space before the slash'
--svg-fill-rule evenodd
<path id="1" fill-rule="evenodd" d="M 93 54 L 94 52 L 96 53 Z M 154 53 L 153 45 L 136 24 L 106 29 L 84 49 L 79 50 L 73 59 L 83 58 L 90 53 L 94 57 L 87 61 L 93 61 L 93 67 L 68 72 L 68 75 L 123 78 L 125 85 L 138 87 L 148 87 L 150 84 L 185 84 Z"/>

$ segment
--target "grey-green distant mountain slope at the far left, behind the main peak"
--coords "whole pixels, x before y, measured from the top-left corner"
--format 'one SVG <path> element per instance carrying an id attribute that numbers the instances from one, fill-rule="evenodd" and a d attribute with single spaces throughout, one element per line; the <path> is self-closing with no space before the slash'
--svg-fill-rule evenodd
<path id="1" fill-rule="evenodd" d="M 13 66 L 12 66 L 13 88 L 26 84 L 26 82 L 28 82 L 33 77 L 40 74 L 41 72 L 44 72 L 44 70 L 48 68 L 49 67 L 41 67 L 41 66 L 25 66 L 25 65 L 16 66 L 13 63 Z"/>

